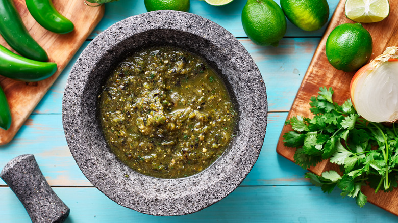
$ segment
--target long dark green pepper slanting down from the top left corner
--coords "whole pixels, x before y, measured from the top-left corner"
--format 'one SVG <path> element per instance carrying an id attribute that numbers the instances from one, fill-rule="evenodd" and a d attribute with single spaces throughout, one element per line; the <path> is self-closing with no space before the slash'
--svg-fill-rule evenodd
<path id="1" fill-rule="evenodd" d="M 0 34 L 15 51 L 36 61 L 47 61 L 43 48 L 32 38 L 22 23 L 12 0 L 0 0 Z"/>

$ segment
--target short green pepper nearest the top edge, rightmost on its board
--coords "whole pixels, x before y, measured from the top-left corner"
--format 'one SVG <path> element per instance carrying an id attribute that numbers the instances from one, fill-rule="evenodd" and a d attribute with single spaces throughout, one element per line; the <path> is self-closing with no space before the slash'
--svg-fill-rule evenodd
<path id="1" fill-rule="evenodd" d="M 51 0 L 26 0 L 26 6 L 33 18 L 45 29 L 60 34 L 73 31 L 73 23 L 54 8 Z"/>

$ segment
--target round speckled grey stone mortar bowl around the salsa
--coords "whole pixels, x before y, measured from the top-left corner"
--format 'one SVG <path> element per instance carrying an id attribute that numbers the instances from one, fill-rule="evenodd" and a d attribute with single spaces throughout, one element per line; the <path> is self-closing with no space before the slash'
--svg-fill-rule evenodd
<path id="1" fill-rule="evenodd" d="M 159 179 L 130 169 L 110 151 L 97 115 L 101 86 L 115 66 L 132 51 L 159 45 L 202 55 L 226 83 L 239 113 L 227 151 L 186 178 Z M 145 214 L 184 215 L 225 198 L 252 169 L 265 136 L 266 88 L 250 54 L 227 30 L 191 13 L 154 11 L 117 22 L 91 41 L 67 80 L 62 121 L 79 168 L 106 196 Z"/>

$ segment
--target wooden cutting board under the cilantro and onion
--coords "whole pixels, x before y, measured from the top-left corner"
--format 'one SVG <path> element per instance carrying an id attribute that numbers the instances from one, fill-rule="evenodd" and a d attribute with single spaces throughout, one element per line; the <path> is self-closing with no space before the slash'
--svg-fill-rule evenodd
<path id="1" fill-rule="evenodd" d="M 398 46 L 398 1 L 393 0 L 390 2 L 390 14 L 381 22 L 377 23 L 364 23 L 362 24 L 366 30 L 368 30 L 373 39 L 373 52 L 371 59 L 374 59 L 380 55 L 388 46 Z M 324 37 L 322 37 L 318 48 L 315 51 L 314 57 L 308 67 L 307 73 L 304 76 L 303 82 L 297 92 L 296 98 L 294 99 L 293 105 L 288 115 L 288 119 L 291 117 L 301 115 L 303 117 L 312 118 L 309 108 L 309 102 L 311 96 L 316 96 L 319 91 L 319 87 L 326 86 L 327 88 L 332 87 L 334 90 L 333 100 L 338 104 L 343 103 L 345 100 L 350 98 L 349 88 L 351 78 L 354 73 L 347 73 L 336 70 L 332 65 L 329 64 L 325 54 L 326 40 L 332 30 L 343 23 L 354 23 L 347 19 L 344 13 L 345 0 L 340 0 L 336 7 L 336 11 L 329 23 L 328 29 L 325 31 Z M 291 131 L 291 126 L 284 126 L 282 133 L 279 137 L 277 152 L 283 157 L 294 161 L 293 155 L 295 152 L 294 148 L 285 147 L 283 145 L 283 134 Z M 324 160 L 310 171 L 320 175 L 324 171 L 336 170 L 336 166 L 330 163 L 328 160 Z M 385 193 L 379 191 L 375 194 L 375 190 L 370 187 L 362 188 L 362 192 L 368 197 L 368 201 L 375 204 L 386 211 L 389 211 L 395 215 L 398 215 L 398 189 L 394 189 L 392 192 Z M 353 201 L 354 202 L 354 201 Z"/>

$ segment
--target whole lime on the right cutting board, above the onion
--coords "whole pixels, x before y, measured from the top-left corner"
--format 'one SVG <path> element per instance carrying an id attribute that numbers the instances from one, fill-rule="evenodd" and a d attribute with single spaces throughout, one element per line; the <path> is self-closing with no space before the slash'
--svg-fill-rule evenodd
<path id="1" fill-rule="evenodd" d="M 360 24 L 341 24 L 330 33 L 326 41 L 326 57 L 337 70 L 356 71 L 369 60 L 372 37 Z"/>

